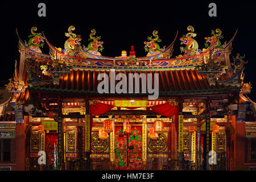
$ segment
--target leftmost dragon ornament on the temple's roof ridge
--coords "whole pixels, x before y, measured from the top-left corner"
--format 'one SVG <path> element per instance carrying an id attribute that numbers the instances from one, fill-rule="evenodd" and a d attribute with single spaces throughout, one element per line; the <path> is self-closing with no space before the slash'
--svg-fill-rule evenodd
<path id="1" fill-rule="evenodd" d="M 44 43 L 43 43 L 44 37 L 42 36 L 42 33 L 36 33 L 35 32 L 36 30 L 38 30 L 38 28 L 36 28 L 36 27 L 31 28 L 31 35 L 28 36 L 28 38 L 30 38 L 30 39 L 28 40 L 27 48 L 30 49 L 31 51 L 42 53 L 42 51 L 39 47 L 44 46 Z"/>

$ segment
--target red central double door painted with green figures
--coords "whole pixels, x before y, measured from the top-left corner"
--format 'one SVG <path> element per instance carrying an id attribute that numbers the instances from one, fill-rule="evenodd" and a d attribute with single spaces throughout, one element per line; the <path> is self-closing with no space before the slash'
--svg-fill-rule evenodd
<path id="1" fill-rule="evenodd" d="M 115 169 L 142 169 L 142 126 L 115 127 Z"/>

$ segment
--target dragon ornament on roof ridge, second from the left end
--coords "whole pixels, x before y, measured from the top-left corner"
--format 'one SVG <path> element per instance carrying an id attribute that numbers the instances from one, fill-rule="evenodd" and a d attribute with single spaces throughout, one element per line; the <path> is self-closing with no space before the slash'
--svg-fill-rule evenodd
<path id="1" fill-rule="evenodd" d="M 72 32 L 75 29 L 76 28 L 74 26 L 70 26 L 68 28 L 68 33 L 65 33 L 65 36 L 68 37 L 68 40 L 66 40 L 64 44 L 64 49 L 61 52 L 65 55 L 80 57 L 78 54 L 79 49 L 81 48 L 80 41 L 82 40 L 82 38 L 81 35 L 76 35 Z"/>

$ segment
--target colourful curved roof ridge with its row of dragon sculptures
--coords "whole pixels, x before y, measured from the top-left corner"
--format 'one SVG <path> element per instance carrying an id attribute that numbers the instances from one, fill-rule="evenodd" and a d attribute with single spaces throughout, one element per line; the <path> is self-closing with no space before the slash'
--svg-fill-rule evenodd
<path id="1" fill-rule="evenodd" d="M 34 29 L 33 29 L 34 28 Z M 19 49 L 25 50 L 25 56 L 33 59 L 37 59 L 40 61 L 53 61 L 54 59 L 65 61 L 65 63 L 73 68 L 78 69 L 138 69 L 138 70 L 153 70 L 153 69 L 180 69 L 180 68 L 193 68 L 198 64 L 203 63 L 204 59 L 209 59 L 209 52 L 212 52 L 212 57 L 215 59 L 224 59 L 225 52 L 229 52 L 232 49 L 232 42 L 236 33 L 230 39 L 228 43 L 224 43 L 221 45 L 220 37 L 216 36 L 213 39 L 212 37 L 205 38 L 207 39 L 207 43 L 210 42 L 209 47 L 199 49 L 199 46 L 194 39 L 195 33 L 189 32 L 187 35 L 183 35 L 180 38 L 181 44 L 185 44 L 184 47 L 180 47 L 184 52 L 183 55 L 179 55 L 176 57 L 171 57 L 172 52 L 174 50 L 174 42 L 177 38 L 177 34 L 174 36 L 173 42 L 167 48 L 160 48 L 158 42 L 161 40 L 158 38 L 158 31 L 153 31 L 153 35 L 155 38 L 148 37 L 150 42 L 144 42 L 145 50 L 147 53 L 144 57 L 135 57 L 135 52 L 132 51 L 131 55 L 117 56 L 117 57 L 107 57 L 102 56 L 100 53 L 100 49 L 102 48 L 103 42 L 99 41 L 100 37 L 94 37 L 96 34 L 95 30 L 92 30 L 92 35 L 90 35 L 90 39 L 92 42 L 88 44 L 88 47 L 81 47 L 80 41 L 81 36 L 73 34 L 72 30 L 75 30 L 75 27 L 69 27 L 69 32 L 65 33 L 69 39 L 65 42 L 65 49 L 56 48 L 49 40 L 46 38 L 44 34 L 36 34 L 36 27 L 31 28 L 32 34 L 30 35 L 30 40 L 28 43 L 23 42 L 18 35 L 19 38 Z M 193 27 L 188 26 L 188 30 L 192 31 Z M 219 30 L 218 28 L 216 30 Z M 194 30 L 193 30 L 194 31 Z M 219 30 L 220 31 L 220 30 Z M 217 31 L 216 31 L 217 32 Z M 34 36 L 34 37 L 33 37 Z M 33 39 L 34 38 L 34 39 Z M 31 39 L 33 42 L 31 43 Z M 73 42 L 73 46 L 69 43 Z M 43 46 L 42 42 L 46 42 L 49 46 L 49 54 L 42 53 L 40 47 Z M 76 47 L 76 51 L 70 50 L 70 47 L 74 47 L 74 45 L 78 45 Z M 195 47 L 191 49 L 192 46 Z M 220 46 L 221 45 L 221 46 Z M 93 48 L 94 49 L 93 49 Z M 100 47 L 100 49 L 99 49 Z M 96 51 L 97 49 L 97 51 Z M 103 48 L 102 48 L 103 49 Z M 102 50 L 101 49 L 101 50 Z M 92 51 L 94 50 L 94 51 Z"/>

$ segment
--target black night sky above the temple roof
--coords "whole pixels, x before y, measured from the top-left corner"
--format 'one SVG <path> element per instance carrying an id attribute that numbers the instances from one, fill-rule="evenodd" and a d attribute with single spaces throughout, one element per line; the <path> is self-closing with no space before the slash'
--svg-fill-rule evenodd
<path id="1" fill-rule="evenodd" d="M 38 4 L 46 3 L 46 17 L 38 16 Z M 210 17 L 209 3 L 217 5 L 217 17 Z M 224 39 L 229 42 L 236 30 L 233 41 L 232 55 L 245 54 L 249 63 L 245 65 L 245 82 L 251 81 L 253 90 L 249 97 L 256 101 L 254 78 L 255 44 L 256 44 L 256 11 L 251 1 L 32 1 L 32 2 L 1 2 L 2 29 L 2 70 L 0 80 L 13 77 L 15 59 L 19 60 L 18 38 L 15 28 L 18 28 L 22 40 L 28 41 L 31 27 L 43 31 L 53 46 L 64 48 L 67 40 L 65 32 L 73 25 L 75 34 L 80 34 L 81 45 L 88 45 L 90 30 L 96 30 L 96 36 L 104 41 L 103 56 L 120 56 L 122 50 L 128 55 L 130 46 L 134 46 L 137 57 L 146 56 L 144 41 L 152 36 L 153 30 L 158 30 L 160 47 L 168 46 L 174 40 L 172 57 L 180 52 L 179 38 L 187 34 L 187 26 L 195 28 L 199 48 L 205 48 L 205 37 L 211 30 L 220 28 Z M 184 45 L 184 44 L 183 44 Z M 184 47 L 184 46 L 183 46 Z M 43 53 L 49 53 L 47 44 Z M 232 56 L 230 56 L 232 61 Z"/>

